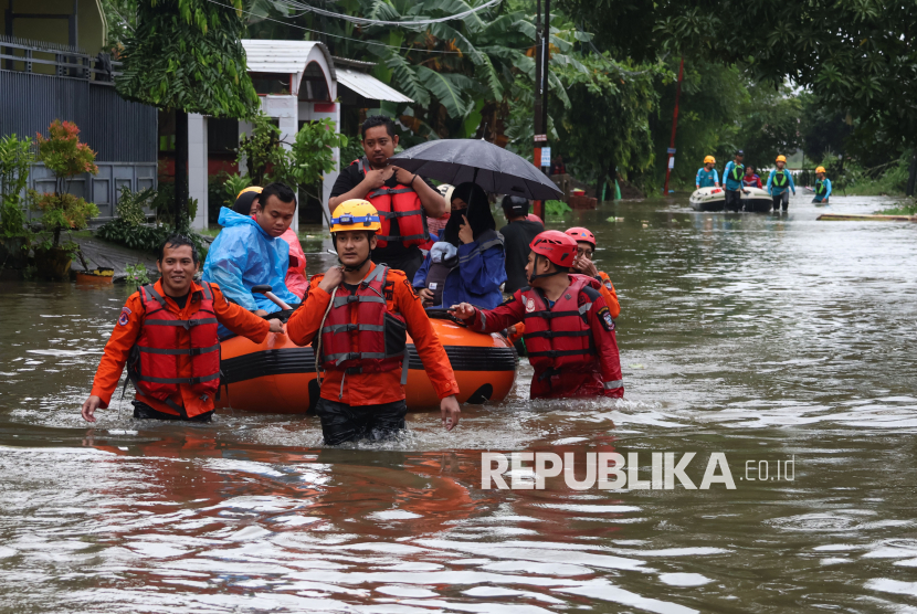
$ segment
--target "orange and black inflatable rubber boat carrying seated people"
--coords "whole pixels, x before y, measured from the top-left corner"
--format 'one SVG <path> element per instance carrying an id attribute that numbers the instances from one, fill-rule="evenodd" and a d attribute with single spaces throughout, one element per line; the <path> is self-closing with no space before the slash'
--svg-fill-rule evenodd
<path id="1" fill-rule="evenodd" d="M 474 332 L 445 316 L 430 311 L 430 321 L 445 348 L 460 403 L 503 401 L 516 379 L 519 357 L 505 337 Z M 306 413 L 318 402 L 318 380 L 312 347 L 295 346 L 286 335 L 268 334 L 261 343 L 244 337 L 221 345 L 223 383 L 217 407 L 259 413 Z M 408 337 L 409 410 L 439 407 L 440 400 Z"/>

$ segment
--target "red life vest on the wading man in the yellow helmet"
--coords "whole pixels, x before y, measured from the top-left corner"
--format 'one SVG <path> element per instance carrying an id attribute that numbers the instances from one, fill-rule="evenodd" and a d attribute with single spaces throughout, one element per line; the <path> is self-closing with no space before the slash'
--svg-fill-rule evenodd
<path id="1" fill-rule="evenodd" d="M 381 373 L 401 367 L 401 383 L 407 382 L 408 326 L 403 316 L 388 309 L 387 273 L 387 266 L 376 265 L 355 294 L 335 295 L 335 303 L 322 327 L 323 369 L 352 374 Z M 357 324 L 351 322 L 354 309 L 357 310 Z"/>

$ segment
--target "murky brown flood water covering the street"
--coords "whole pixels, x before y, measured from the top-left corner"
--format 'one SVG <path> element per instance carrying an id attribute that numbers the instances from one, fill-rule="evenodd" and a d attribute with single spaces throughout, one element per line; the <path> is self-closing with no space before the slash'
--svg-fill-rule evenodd
<path id="1" fill-rule="evenodd" d="M 384 445 L 324 448 L 310 416 L 141 423 L 127 399 L 88 427 L 130 289 L 4 283 L 0 611 L 917 612 L 917 224 L 809 200 L 550 221 L 597 231 L 625 400 L 529 402 L 523 361 L 505 403 Z M 578 479 L 636 453 L 645 480 L 694 452 L 695 485 L 723 453 L 735 489 L 484 489 L 488 451 L 573 453 Z"/>

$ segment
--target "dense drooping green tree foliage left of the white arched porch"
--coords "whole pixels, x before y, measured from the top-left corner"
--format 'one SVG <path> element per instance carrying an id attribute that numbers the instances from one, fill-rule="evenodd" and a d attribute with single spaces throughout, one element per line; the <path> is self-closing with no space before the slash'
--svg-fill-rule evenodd
<path id="1" fill-rule="evenodd" d="M 138 0 L 118 93 L 164 109 L 249 118 L 259 108 L 236 11 L 207 0 Z"/>

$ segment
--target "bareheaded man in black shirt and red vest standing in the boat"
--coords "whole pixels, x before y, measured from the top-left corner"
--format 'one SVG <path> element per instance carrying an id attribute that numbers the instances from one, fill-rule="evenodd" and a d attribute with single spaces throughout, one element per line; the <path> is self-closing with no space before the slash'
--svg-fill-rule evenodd
<path id="1" fill-rule="evenodd" d="M 422 177 L 389 165 L 398 147 L 391 118 L 368 117 L 361 134 L 366 156 L 340 171 L 331 188 L 328 209 L 352 199 L 371 202 L 382 220 L 372 262 L 386 263 L 413 279 L 423 263 L 420 246 L 430 241 L 426 218 L 442 218 L 446 212 L 445 200 Z"/>

